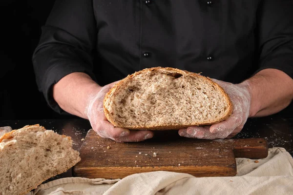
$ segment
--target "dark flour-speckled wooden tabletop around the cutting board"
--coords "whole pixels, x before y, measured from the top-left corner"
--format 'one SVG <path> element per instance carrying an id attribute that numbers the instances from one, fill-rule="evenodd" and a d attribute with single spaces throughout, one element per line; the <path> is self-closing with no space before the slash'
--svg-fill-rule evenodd
<path id="1" fill-rule="evenodd" d="M 72 137 L 73 148 L 79 150 L 87 131 L 91 129 L 88 120 L 42 119 L 42 120 L 0 120 L 0 127 L 10 126 L 19 129 L 25 125 L 40 124 L 48 130 Z M 243 130 L 233 138 L 261 137 L 268 141 L 269 148 L 283 147 L 293 156 L 293 115 L 292 110 L 284 110 L 272 116 L 249 118 Z M 72 170 L 50 178 L 47 181 L 70 177 Z M 47 182 L 45 181 L 45 182 Z"/>

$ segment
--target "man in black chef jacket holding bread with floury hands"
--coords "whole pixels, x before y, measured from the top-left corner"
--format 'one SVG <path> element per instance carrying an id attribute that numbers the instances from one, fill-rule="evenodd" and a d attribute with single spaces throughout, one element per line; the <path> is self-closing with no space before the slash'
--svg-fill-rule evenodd
<path id="1" fill-rule="evenodd" d="M 179 134 L 233 137 L 248 117 L 277 113 L 293 99 L 293 1 L 56 0 L 32 59 L 52 109 L 89 119 L 116 141 L 153 133 L 106 120 L 103 98 L 114 81 L 155 66 L 202 72 L 228 92 L 233 113 Z"/>

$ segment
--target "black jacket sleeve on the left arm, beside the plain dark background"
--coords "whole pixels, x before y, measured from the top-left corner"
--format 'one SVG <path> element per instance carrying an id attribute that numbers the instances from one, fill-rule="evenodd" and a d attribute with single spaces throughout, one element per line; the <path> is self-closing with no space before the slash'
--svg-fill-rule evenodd
<path id="1" fill-rule="evenodd" d="M 44 26 L 32 62 L 36 82 L 48 105 L 64 112 L 53 99 L 52 86 L 73 72 L 91 78 L 96 23 L 92 0 L 56 0 Z"/>

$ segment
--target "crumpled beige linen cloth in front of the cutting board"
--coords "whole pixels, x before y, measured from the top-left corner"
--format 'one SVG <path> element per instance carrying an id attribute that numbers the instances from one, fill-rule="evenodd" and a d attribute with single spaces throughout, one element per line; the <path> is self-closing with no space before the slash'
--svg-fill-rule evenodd
<path id="1" fill-rule="evenodd" d="M 254 160 L 236 158 L 236 176 L 157 171 L 115 180 L 69 177 L 42 184 L 28 195 L 293 195 L 293 158 L 284 148 L 270 148 L 268 157 Z"/>

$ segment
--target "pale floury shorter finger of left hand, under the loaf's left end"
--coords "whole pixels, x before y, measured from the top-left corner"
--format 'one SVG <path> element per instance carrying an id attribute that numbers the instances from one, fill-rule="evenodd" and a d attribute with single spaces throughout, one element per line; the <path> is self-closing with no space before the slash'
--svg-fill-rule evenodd
<path id="1" fill-rule="evenodd" d="M 109 121 L 100 121 L 95 131 L 101 136 L 111 139 L 128 136 L 130 131 L 125 128 L 114 127 Z"/>

